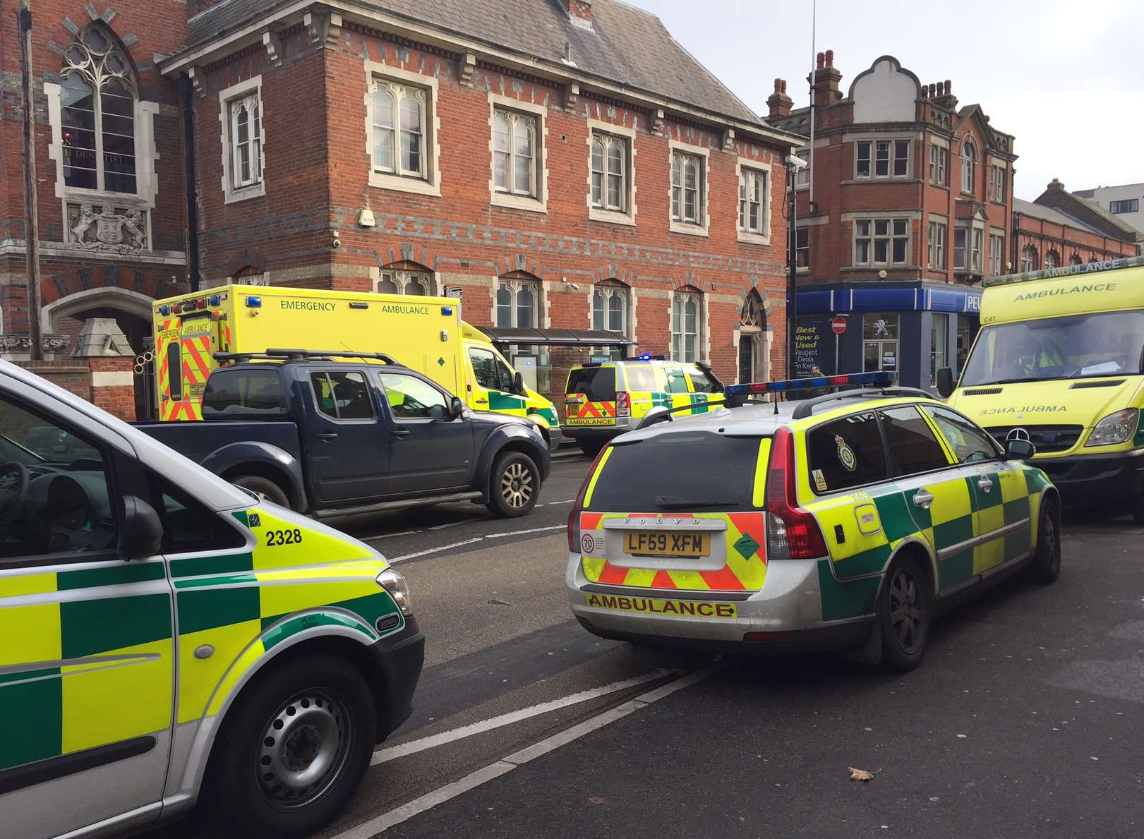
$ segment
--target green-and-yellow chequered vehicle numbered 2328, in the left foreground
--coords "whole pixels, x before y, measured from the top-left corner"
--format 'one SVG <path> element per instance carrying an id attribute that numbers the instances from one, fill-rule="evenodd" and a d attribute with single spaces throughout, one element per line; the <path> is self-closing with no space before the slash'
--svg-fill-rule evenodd
<path id="1" fill-rule="evenodd" d="M 302 837 L 411 713 L 424 636 L 368 545 L 0 361 L 2 834 L 196 802 Z"/>

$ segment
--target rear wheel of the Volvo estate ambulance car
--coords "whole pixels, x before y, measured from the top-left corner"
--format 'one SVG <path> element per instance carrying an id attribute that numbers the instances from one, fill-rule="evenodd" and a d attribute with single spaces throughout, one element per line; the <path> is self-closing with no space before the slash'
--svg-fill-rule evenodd
<path id="1" fill-rule="evenodd" d="M 932 609 L 929 583 L 917 561 L 903 556 L 890 565 L 879 593 L 882 664 L 908 671 L 922 663 Z"/>

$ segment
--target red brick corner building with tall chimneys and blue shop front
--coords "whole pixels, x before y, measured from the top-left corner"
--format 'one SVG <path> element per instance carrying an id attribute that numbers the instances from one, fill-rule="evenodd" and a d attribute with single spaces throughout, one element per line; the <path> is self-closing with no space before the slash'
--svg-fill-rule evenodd
<path id="1" fill-rule="evenodd" d="M 959 105 L 950 81 L 923 85 L 892 56 L 845 94 L 841 80 L 833 53 L 820 53 L 813 166 L 797 198 L 800 357 L 930 387 L 968 351 L 972 288 L 1010 269 L 1014 137 L 980 105 Z M 811 109 L 791 110 L 785 81 L 768 102 L 772 125 L 810 136 Z M 848 318 L 836 348 L 825 329 L 834 315 Z"/>

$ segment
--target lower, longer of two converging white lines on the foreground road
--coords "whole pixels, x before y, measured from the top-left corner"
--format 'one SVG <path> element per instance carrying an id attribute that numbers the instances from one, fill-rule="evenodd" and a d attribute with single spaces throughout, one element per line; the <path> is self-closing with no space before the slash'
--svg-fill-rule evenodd
<path id="1" fill-rule="evenodd" d="M 333 839 L 371 839 L 371 837 L 389 830 L 394 825 L 400 824 L 418 814 L 426 813 L 439 804 L 454 799 L 469 790 L 475 790 L 482 784 L 492 781 L 493 778 L 498 778 L 505 773 L 511 771 L 534 758 L 548 754 L 548 752 L 559 749 L 561 746 L 583 737 L 586 734 L 590 734 L 591 731 L 615 722 L 617 720 L 621 720 L 634 711 L 638 711 L 653 702 L 662 699 L 665 696 L 670 696 L 677 690 L 691 687 L 696 682 L 700 682 L 704 679 L 714 675 L 717 670 L 717 665 L 697 670 L 693 673 L 681 676 L 668 682 L 667 684 L 656 688 L 654 690 L 649 690 L 646 694 L 641 694 L 618 707 L 613 707 L 609 711 L 604 711 L 603 713 L 598 713 L 595 717 L 590 717 L 579 725 L 572 726 L 571 728 L 542 739 L 539 743 L 534 743 L 531 746 L 514 752 L 502 760 L 498 760 L 488 766 L 482 767 L 480 769 L 466 775 L 460 781 L 455 781 L 452 784 L 446 784 L 445 786 L 432 790 L 431 792 L 427 792 L 424 796 L 415 798 L 400 807 L 389 810 L 388 813 L 382 813 L 380 816 L 375 816 L 368 822 L 359 824 L 356 828 L 351 828 L 343 833 L 339 833 L 333 837 Z"/>

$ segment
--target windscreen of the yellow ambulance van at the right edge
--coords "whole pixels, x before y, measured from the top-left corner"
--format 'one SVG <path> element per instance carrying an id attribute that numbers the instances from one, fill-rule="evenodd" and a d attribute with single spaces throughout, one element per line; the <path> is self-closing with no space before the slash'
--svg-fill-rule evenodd
<path id="1" fill-rule="evenodd" d="M 1144 364 L 1144 311 L 1104 311 L 986 326 L 961 387 L 1129 375 Z"/>

